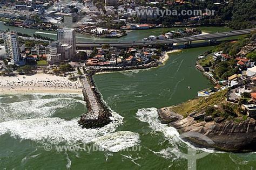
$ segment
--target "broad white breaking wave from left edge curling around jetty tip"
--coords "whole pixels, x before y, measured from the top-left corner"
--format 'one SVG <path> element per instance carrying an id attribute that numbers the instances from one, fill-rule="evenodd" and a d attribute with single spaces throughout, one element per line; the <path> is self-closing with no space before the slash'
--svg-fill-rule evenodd
<path id="1" fill-rule="evenodd" d="M 99 129 L 82 129 L 77 119 L 65 121 L 61 118 L 36 118 L 0 123 L 0 136 L 9 133 L 11 137 L 30 139 L 50 144 L 87 144 L 93 139 L 113 133 L 123 123 L 123 117 L 112 112 L 116 121 Z"/>

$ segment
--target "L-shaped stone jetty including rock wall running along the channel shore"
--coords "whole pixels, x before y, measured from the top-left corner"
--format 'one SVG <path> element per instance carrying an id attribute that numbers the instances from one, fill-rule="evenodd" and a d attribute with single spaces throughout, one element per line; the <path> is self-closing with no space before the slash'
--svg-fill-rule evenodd
<path id="1" fill-rule="evenodd" d="M 111 121 L 110 117 L 111 110 L 107 107 L 97 90 L 92 76 L 98 72 L 118 72 L 123 70 L 133 70 L 133 69 L 146 69 L 157 67 L 161 62 L 151 62 L 147 65 L 131 66 L 131 67 L 119 67 L 119 68 L 89 68 L 87 70 L 86 76 L 80 81 L 83 83 L 83 95 L 86 102 L 87 112 L 82 115 L 78 121 L 82 128 L 102 128 L 103 126 L 109 124 Z"/>

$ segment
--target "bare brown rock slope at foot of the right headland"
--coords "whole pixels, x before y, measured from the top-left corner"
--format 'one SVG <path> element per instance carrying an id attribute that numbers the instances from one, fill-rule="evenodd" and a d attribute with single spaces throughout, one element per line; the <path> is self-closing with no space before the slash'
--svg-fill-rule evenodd
<path id="1" fill-rule="evenodd" d="M 229 152 L 256 151 L 256 122 L 253 118 L 248 117 L 245 121 L 234 122 L 223 118 L 204 117 L 201 113 L 186 118 L 180 115 L 174 118 L 177 114 L 170 114 L 167 110 L 167 108 L 158 110 L 163 123 L 173 126 L 179 133 L 198 132 L 213 141 L 208 143 L 196 137 L 186 138 L 192 144 Z M 197 121 L 198 117 L 200 121 Z"/>

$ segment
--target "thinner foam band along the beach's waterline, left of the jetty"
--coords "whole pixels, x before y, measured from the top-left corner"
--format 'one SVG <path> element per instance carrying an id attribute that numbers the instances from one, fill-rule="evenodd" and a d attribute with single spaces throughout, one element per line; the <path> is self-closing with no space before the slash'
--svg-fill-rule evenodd
<path id="1" fill-rule="evenodd" d="M 84 101 L 72 98 L 49 98 L 14 103 L 1 103 L 0 122 L 12 121 L 15 119 L 48 118 L 51 117 L 57 109 L 65 107 L 72 108 L 75 107 L 76 103 L 85 105 Z"/>

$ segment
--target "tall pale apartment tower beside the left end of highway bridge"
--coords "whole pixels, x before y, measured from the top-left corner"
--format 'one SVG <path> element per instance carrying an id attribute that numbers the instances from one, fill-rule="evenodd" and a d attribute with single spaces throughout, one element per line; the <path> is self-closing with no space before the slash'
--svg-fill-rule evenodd
<path id="1" fill-rule="evenodd" d="M 61 44 L 68 44 L 71 46 L 71 57 L 76 54 L 76 33 L 75 29 L 58 29 L 57 38 Z M 62 58 L 66 58 L 62 56 Z"/>

